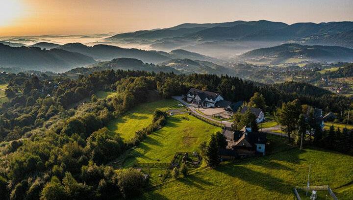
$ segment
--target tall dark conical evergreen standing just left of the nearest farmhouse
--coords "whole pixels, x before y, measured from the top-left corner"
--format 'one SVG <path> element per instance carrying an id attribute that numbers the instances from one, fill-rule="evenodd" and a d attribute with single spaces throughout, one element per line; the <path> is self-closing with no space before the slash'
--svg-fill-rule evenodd
<path id="1" fill-rule="evenodd" d="M 209 167 L 214 168 L 220 163 L 216 134 L 212 134 L 205 149 L 205 160 Z"/>

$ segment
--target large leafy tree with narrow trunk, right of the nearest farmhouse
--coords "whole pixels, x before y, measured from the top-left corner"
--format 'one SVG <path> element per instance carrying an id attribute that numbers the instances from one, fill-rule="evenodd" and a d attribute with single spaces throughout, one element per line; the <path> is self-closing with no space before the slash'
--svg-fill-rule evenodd
<path id="1" fill-rule="evenodd" d="M 284 126 L 284 131 L 288 134 L 291 142 L 291 134 L 297 129 L 299 115 L 302 113 L 302 106 L 299 100 L 283 103 L 281 108 L 277 108 L 276 118 L 280 125 Z"/>

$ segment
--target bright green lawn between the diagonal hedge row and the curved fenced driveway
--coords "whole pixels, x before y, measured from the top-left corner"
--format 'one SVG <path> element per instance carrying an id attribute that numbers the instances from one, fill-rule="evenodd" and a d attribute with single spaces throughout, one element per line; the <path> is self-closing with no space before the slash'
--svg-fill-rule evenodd
<path id="1" fill-rule="evenodd" d="M 182 119 L 183 116 L 187 116 L 189 120 Z M 149 135 L 126 155 L 123 165 L 130 167 L 134 163 L 169 163 L 178 151 L 198 151 L 200 144 L 217 131 L 221 131 L 221 128 L 193 116 L 171 116 L 163 128 Z"/>

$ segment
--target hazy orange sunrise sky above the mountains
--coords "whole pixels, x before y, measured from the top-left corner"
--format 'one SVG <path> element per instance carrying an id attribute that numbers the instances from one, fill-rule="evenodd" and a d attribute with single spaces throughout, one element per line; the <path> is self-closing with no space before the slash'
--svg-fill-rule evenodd
<path id="1" fill-rule="evenodd" d="M 236 20 L 353 21 L 353 0 L 0 0 L 0 36 L 120 33 Z"/>

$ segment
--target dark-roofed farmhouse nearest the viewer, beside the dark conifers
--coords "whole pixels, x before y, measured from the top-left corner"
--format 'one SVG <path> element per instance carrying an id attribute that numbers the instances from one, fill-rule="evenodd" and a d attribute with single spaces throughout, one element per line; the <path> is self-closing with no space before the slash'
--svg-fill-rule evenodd
<path id="1" fill-rule="evenodd" d="M 220 149 L 222 159 L 233 159 L 237 157 L 253 156 L 255 154 L 265 155 L 266 133 L 253 132 L 251 127 L 246 127 L 244 131 L 226 130 L 227 148 Z"/>

